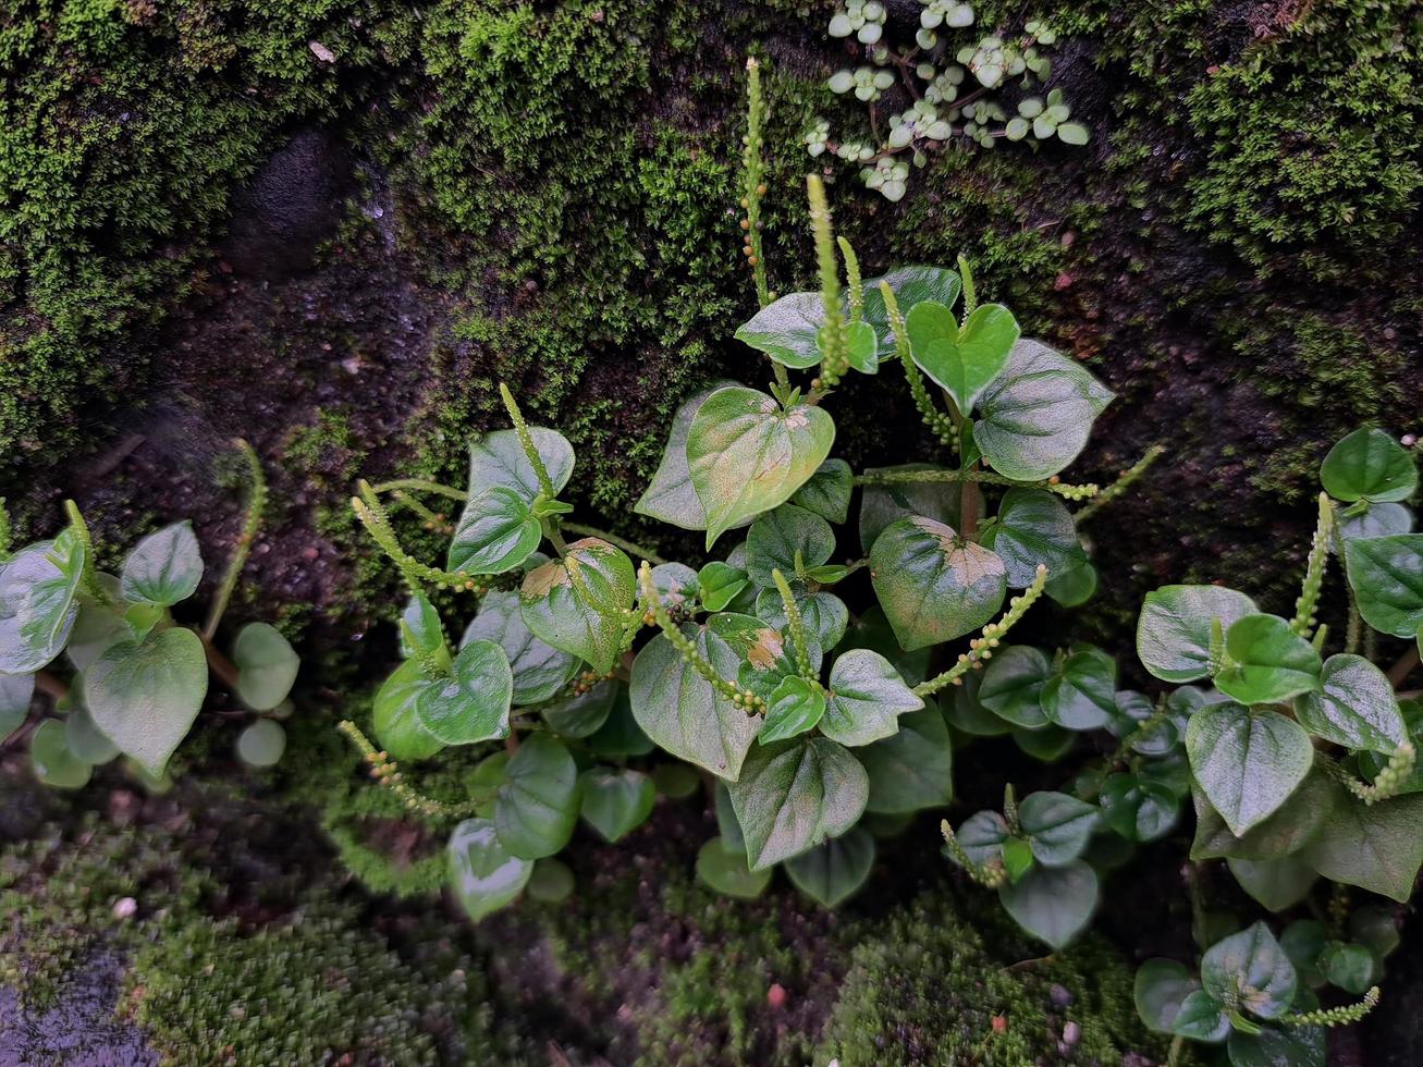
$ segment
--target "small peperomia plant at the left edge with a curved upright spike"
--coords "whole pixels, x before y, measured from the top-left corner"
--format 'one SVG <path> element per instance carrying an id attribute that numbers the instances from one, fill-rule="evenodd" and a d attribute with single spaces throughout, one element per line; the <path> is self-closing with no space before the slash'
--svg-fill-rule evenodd
<path id="1" fill-rule="evenodd" d="M 88 525 L 73 501 L 68 524 L 50 541 L 10 551 L 0 506 L 0 738 L 28 743 L 36 777 L 80 788 L 94 767 L 124 755 L 148 785 L 162 785 L 215 676 L 242 706 L 235 747 L 253 767 L 270 767 L 286 745 L 279 718 L 299 659 L 282 633 L 243 626 L 219 652 L 215 640 L 262 521 L 266 482 L 256 452 L 238 441 L 250 477 L 249 499 L 228 569 L 198 622 L 175 619 L 202 580 L 203 562 L 188 522 L 142 538 L 118 575 L 98 569 Z M 61 659 L 63 657 L 63 659 Z M 36 700 L 36 693 L 46 700 Z"/>

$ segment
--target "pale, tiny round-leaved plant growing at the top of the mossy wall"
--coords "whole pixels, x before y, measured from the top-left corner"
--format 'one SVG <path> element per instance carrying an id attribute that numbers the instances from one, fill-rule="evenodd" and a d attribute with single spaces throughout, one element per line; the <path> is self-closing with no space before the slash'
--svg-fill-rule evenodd
<path id="1" fill-rule="evenodd" d="M 854 0 L 831 17 L 830 36 L 855 34 L 869 63 L 838 70 L 827 84 L 832 92 L 852 92 L 869 105 L 869 131 L 854 138 L 832 138 L 830 121 L 817 117 L 804 137 L 813 156 L 828 151 L 861 164 L 859 176 L 867 188 L 885 199 L 898 201 L 908 188 L 909 162 L 924 166 L 929 152 L 951 144 L 972 142 L 992 148 L 1000 138 L 1022 141 L 1029 137 L 1035 142 L 1059 139 L 1070 145 L 1087 144 L 1087 128 L 1067 121 L 1072 108 L 1062 90 L 1050 91 L 1046 101 L 1025 95 L 1012 118 L 993 97 L 1010 78 L 1020 77 L 1025 90 L 1047 80 L 1052 61 L 1043 48 L 1057 40 L 1047 24 L 1033 20 L 1023 27 L 1019 38 L 989 36 L 953 51 L 941 38 L 939 30 L 972 26 L 972 6 L 949 0 L 921 3 L 924 11 L 914 44 L 891 46 L 881 40 L 887 11 L 875 0 Z M 976 84 L 965 88 L 970 75 Z M 904 84 L 912 102 L 905 111 L 889 115 L 888 132 L 882 134 L 875 104 L 896 81 Z"/>

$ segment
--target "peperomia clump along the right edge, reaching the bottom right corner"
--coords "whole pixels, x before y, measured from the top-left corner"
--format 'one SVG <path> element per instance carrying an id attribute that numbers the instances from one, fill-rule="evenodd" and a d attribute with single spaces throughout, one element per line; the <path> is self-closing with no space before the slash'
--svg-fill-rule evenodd
<path id="1" fill-rule="evenodd" d="M 1406 902 L 1423 864 L 1423 706 L 1395 691 L 1423 642 L 1423 535 L 1409 532 L 1403 504 L 1417 489 L 1416 462 L 1392 437 L 1365 428 L 1339 441 L 1319 474 L 1319 524 L 1292 619 L 1259 612 L 1234 589 L 1165 586 L 1147 596 L 1137 629 L 1151 674 L 1211 681 L 1183 684 L 1167 701 L 1185 713 L 1191 858 L 1225 859 L 1271 912 L 1305 901 L 1321 878 Z M 1326 657 L 1329 633 L 1316 609 L 1331 558 L 1342 563 L 1349 623 L 1342 650 Z M 1387 671 L 1359 654 L 1376 649 L 1377 635 L 1409 642 Z M 1373 1006 L 1370 987 L 1396 942 L 1392 918 L 1375 908 L 1349 916 L 1348 933 L 1343 922 L 1331 929 L 1306 919 L 1279 943 L 1257 923 L 1205 953 L 1204 989 L 1180 963 L 1150 962 L 1138 1004 L 1158 1030 L 1228 1041 L 1242 1067 L 1316 1063 L 1323 1046 L 1315 1030 Z M 1308 990 L 1296 996 L 1296 970 L 1311 984 L 1366 993 L 1365 1002 L 1312 1010 Z M 1301 1023 L 1285 1014 L 1298 1006 L 1311 1009 L 1306 1024 L 1279 1029 L 1281 1019 Z"/>

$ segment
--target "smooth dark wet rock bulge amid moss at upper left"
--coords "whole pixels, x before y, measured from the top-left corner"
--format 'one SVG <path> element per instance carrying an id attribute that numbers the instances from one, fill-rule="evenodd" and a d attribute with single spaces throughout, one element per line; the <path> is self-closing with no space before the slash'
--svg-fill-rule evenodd
<path id="1" fill-rule="evenodd" d="M 238 275 L 259 279 L 310 269 L 350 191 L 351 161 L 342 142 L 320 129 L 296 134 L 236 196 L 225 260 Z"/>

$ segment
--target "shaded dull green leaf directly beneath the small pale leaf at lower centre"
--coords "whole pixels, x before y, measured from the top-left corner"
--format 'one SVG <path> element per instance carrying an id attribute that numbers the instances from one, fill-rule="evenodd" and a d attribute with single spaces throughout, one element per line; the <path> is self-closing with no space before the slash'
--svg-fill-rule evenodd
<path id="1" fill-rule="evenodd" d="M 865 809 L 898 815 L 953 798 L 953 747 L 939 708 L 899 716 L 899 731 L 855 751 L 869 775 Z"/>

